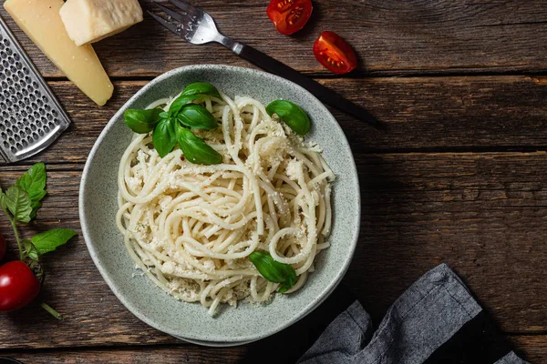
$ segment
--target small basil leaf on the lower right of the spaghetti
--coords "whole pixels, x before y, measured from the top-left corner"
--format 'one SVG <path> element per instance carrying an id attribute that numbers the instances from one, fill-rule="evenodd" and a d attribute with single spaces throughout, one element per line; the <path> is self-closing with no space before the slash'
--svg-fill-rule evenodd
<path id="1" fill-rule="evenodd" d="M 268 279 L 270 282 L 281 283 L 279 293 L 286 292 L 289 288 L 296 283 L 296 271 L 288 264 L 280 263 L 272 256 L 263 251 L 256 250 L 249 255 L 249 259 L 253 262 L 263 278 Z"/>

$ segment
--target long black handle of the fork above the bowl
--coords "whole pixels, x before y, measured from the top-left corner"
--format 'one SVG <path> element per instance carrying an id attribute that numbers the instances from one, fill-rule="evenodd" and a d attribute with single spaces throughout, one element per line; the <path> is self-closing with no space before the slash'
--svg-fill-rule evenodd
<path id="1" fill-rule="evenodd" d="M 366 121 L 373 126 L 380 126 L 377 118 L 372 116 L 363 107 L 357 106 L 343 96 L 338 95 L 330 88 L 321 85 L 308 76 L 304 76 L 294 68 L 284 65 L 271 56 L 263 54 L 261 51 L 254 49 L 252 46 L 245 45 L 240 42 L 234 42 L 231 48 L 233 53 L 238 56 L 242 56 L 254 65 L 259 66 L 274 75 L 283 76 L 289 81 L 293 81 L 295 84 L 303 86 L 310 93 L 325 102 L 325 104 L 334 106 L 335 108 L 344 111 L 351 116 L 355 116 L 359 120 Z"/>

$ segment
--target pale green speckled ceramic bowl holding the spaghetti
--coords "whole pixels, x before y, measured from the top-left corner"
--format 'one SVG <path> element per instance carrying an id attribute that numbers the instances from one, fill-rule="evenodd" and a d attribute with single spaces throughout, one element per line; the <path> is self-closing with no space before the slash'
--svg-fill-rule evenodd
<path id="1" fill-rule="evenodd" d="M 123 121 L 127 108 L 143 108 L 160 97 L 174 96 L 192 82 L 209 82 L 227 95 L 253 96 L 268 104 L 284 98 L 302 106 L 312 119 L 311 134 L 324 149 L 336 175 L 331 247 L 316 259 L 315 272 L 304 288 L 277 295 L 262 307 L 240 304 L 222 307 L 212 318 L 200 304 L 180 302 L 149 278 L 134 275 L 135 264 L 116 227 L 119 160 L 129 146 L 131 131 Z M 360 221 L 356 165 L 346 136 L 323 104 L 301 86 L 254 69 L 233 66 L 186 66 L 144 86 L 108 122 L 91 150 L 79 191 L 79 215 L 89 253 L 119 300 L 139 319 L 180 339 L 201 345 L 232 346 L 263 339 L 304 318 L 344 277 L 356 248 Z"/>

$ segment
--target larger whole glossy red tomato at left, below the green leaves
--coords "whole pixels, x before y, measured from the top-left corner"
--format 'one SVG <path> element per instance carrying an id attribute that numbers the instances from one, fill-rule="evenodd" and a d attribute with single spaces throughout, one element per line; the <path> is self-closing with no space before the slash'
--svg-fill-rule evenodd
<path id="1" fill-rule="evenodd" d="M 39 292 L 40 282 L 21 260 L 0 267 L 0 311 L 25 307 Z"/>

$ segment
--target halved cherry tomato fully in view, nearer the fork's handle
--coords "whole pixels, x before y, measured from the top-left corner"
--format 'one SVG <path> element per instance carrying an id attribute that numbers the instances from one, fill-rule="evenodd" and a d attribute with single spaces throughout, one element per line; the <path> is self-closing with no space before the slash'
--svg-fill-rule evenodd
<path id="1" fill-rule="evenodd" d="M 335 74 L 346 74 L 357 66 L 351 45 L 334 32 L 323 32 L 314 44 L 315 58 Z"/>

